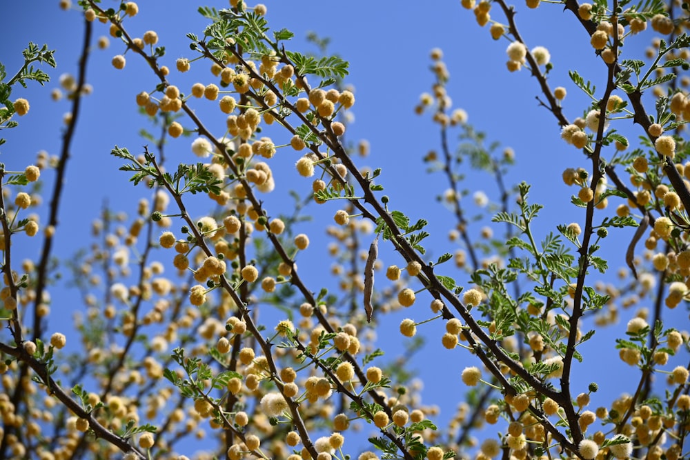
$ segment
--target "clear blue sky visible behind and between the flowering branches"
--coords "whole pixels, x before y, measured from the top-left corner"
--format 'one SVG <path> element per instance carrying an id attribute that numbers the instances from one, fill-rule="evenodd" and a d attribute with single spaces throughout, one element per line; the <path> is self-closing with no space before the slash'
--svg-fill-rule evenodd
<path id="1" fill-rule="evenodd" d="M 117 5 L 116 2 L 110 3 Z M 451 74 L 448 90 L 453 106 L 466 110 L 469 122 L 477 130 L 486 132 L 489 141 L 501 141 L 515 151 L 516 166 L 509 172 L 506 181 L 514 184 L 524 180 L 533 185 L 531 197 L 545 206 L 538 227 L 540 236 L 555 230 L 557 224 L 584 221 L 584 212 L 569 204 L 575 189 L 567 188 L 561 180 L 565 168 L 588 166 L 582 152 L 560 139 L 555 118 L 538 106 L 535 99 L 538 95 L 537 81 L 526 70 L 514 74 L 506 70 L 505 48 L 509 42 L 505 39 L 493 41 L 488 26 L 477 26 L 474 14 L 464 10 L 460 2 L 267 0 L 264 3 L 268 7 L 270 26 L 275 29 L 289 28 L 295 32 L 295 39 L 289 44 L 293 49 L 316 51 L 313 45 L 304 40 L 308 32 L 314 31 L 319 37 L 331 39 L 329 52 L 337 53 L 350 62 L 350 76 L 346 83 L 355 87 L 357 103 L 353 110 L 355 123 L 348 127 L 348 139 L 367 139 L 371 144 L 371 154 L 364 163 L 372 168 L 383 168 L 380 183 L 386 186 L 392 208 L 406 212 L 412 219 L 424 217 L 431 221 L 430 246 L 434 254 L 446 250 L 452 252 L 452 248 L 448 248 L 446 234 L 453 226 L 453 221 L 451 214 L 434 199 L 445 190 L 446 182 L 440 176 L 421 173 L 424 154 L 439 148 L 438 130 L 428 116 L 419 117 L 413 112 L 420 94 L 431 89 L 433 76 L 428 70 L 428 56 L 432 48 L 438 47 L 444 51 L 444 61 Z M 164 3 L 140 1 L 140 14 L 128 19 L 126 28 L 134 31 L 135 36 L 141 36 L 145 30 L 156 30 L 160 44 L 166 46 L 163 62 L 174 69 L 178 57 L 193 57 L 184 34 L 200 34 L 207 23 L 197 14 L 195 5 L 196 2 L 181 0 Z M 208 2 L 208 5 L 226 7 L 225 2 Z M 568 70 L 577 68 L 585 79 L 593 80 L 601 88 L 604 88 L 603 79 L 606 76 L 605 67 L 589 46 L 589 37 L 560 5 L 542 3 L 540 8 L 528 10 L 520 3 L 517 8 L 517 24 L 529 48 L 546 46 L 551 52 L 554 68 L 549 83 L 552 88 L 567 88 L 568 96 L 564 101 L 566 116 L 571 120 L 581 116 L 588 108 L 589 100 L 571 84 Z M 9 169 L 23 169 L 33 161 L 38 150 L 48 150 L 50 154 L 59 152 L 63 130 L 61 119 L 69 106 L 68 101 L 51 101 L 50 90 L 59 86 L 57 80 L 60 74 L 74 74 L 77 70 L 81 17 L 75 11 L 59 10 L 57 1 L 25 0 L 8 2 L 7 6 L 3 6 L 3 18 L 10 19 L 3 22 L 6 36 L 12 37 L 11 40 L 0 41 L 0 61 L 6 65 L 8 73 L 12 74 L 20 65 L 21 50 L 28 41 L 48 43 L 50 48 L 58 50 L 55 54 L 58 68 L 44 69 L 53 78 L 47 85 L 48 89 L 41 90 L 36 83 L 30 83 L 28 90 L 15 87 L 12 94 L 12 99 L 29 99 L 31 110 L 28 116 L 19 119 L 19 128 L 3 132 L 8 143 L 0 148 L 0 161 L 6 163 Z M 492 18 L 502 20 L 497 11 Z M 107 33 L 105 26 L 95 25 L 95 37 Z M 625 52 L 630 53 L 627 57 L 640 59 L 650 40 L 649 34 L 640 39 L 630 39 L 625 47 Z M 77 125 L 77 137 L 68 165 L 60 218 L 63 228 L 56 240 L 56 255 L 59 257 L 70 257 L 83 246 L 84 241 L 88 241 L 90 223 L 97 216 L 104 199 L 108 199 L 110 206 L 116 210 L 132 214 L 137 197 L 146 196 L 144 189 L 132 188 L 126 174 L 117 171 L 119 162 L 109 152 L 115 144 L 126 146 L 133 153 L 140 152 L 144 140 L 139 137 L 138 131 L 146 126 L 146 120 L 137 114 L 135 94 L 142 90 L 154 90 L 156 80 L 143 61 L 132 53 L 127 54 L 124 70 L 113 69 L 110 60 L 115 54 L 124 52 L 124 46 L 116 39 L 110 41 L 110 48 L 94 49 L 90 58 L 87 79 L 93 85 L 93 94 L 83 99 L 83 117 Z M 206 66 L 206 63 L 199 65 Z M 193 70 L 196 70 L 194 66 L 195 63 Z M 187 88 L 200 78 L 199 75 L 205 75 L 205 83 L 211 81 L 208 72 L 178 74 L 174 70 L 172 81 L 180 88 Z M 210 106 L 210 103 L 206 107 L 200 106 L 199 112 L 210 112 Z M 210 121 L 210 125 L 221 127 L 224 119 Z M 453 136 L 451 133 L 451 141 Z M 189 143 L 190 139 L 178 139 L 171 143 L 168 148 L 171 156 L 194 161 Z M 279 159 L 281 155 L 284 155 L 283 159 Z M 292 168 L 296 158 L 279 152 L 276 164 L 282 166 L 274 168 Z M 46 176 L 50 183 L 49 174 Z M 309 183 L 300 182 L 296 174 L 289 176 L 286 173 L 288 179 L 284 181 L 280 177 L 277 179 L 277 192 L 290 189 L 305 192 L 308 188 Z M 487 179 L 485 174 L 469 173 L 464 187 L 471 191 L 484 190 L 495 200 L 497 196 L 489 188 L 491 183 Z M 43 199 L 48 201 L 48 197 Z M 269 203 L 275 199 L 273 209 L 279 208 L 279 198 L 271 196 L 266 199 Z M 331 206 L 315 212 L 324 216 L 323 219 L 330 219 L 336 209 Z M 615 209 L 615 205 L 611 209 Z M 309 279 L 308 274 L 328 270 L 330 265 L 322 257 L 326 239 L 319 238 L 318 230 L 313 231 L 314 243 L 307 254 L 311 259 L 298 260 L 301 270 L 307 274 L 306 279 Z M 616 233 L 613 238 L 621 242 L 611 252 L 609 259 L 609 266 L 615 272 L 616 268 L 624 266 L 624 248 L 631 233 L 626 230 L 613 232 Z M 39 246 L 34 246 L 37 241 L 19 237 L 14 242 L 23 257 L 32 257 L 39 250 Z M 320 248 L 319 243 L 322 245 Z M 382 257 L 385 264 L 400 263 L 390 250 L 384 249 Z M 467 279 L 460 276 L 458 281 L 466 283 Z M 65 291 L 61 295 L 64 299 L 54 297 L 53 312 L 57 314 L 51 318 L 49 330 L 60 327 L 59 316 L 64 313 L 63 317 L 68 317 L 70 314 L 71 307 L 65 305 L 75 294 Z M 61 303 L 61 300 L 65 303 Z M 426 305 L 426 300 L 423 304 Z M 677 319 L 687 324 L 687 314 L 680 310 L 684 310 L 684 306 L 676 310 Z M 413 317 L 421 320 L 426 314 L 424 311 Z M 622 324 L 626 321 L 627 318 L 622 319 Z M 446 350 L 440 348 L 438 331 L 442 330 L 442 325 L 428 326 L 426 330 L 433 331 L 437 339 L 430 340 L 428 350 L 422 353 L 423 359 L 415 362 L 414 366 L 424 375 L 431 375 L 425 379 L 424 401 L 442 405 L 449 397 L 449 390 L 453 394 L 462 392 L 460 370 L 470 365 L 471 359 L 468 354 L 454 354 L 450 369 L 442 369 L 448 366 L 451 359 Z M 397 322 L 393 320 L 380 326 L 377 332 L 380 337 L 392 337 L 393 341 L 398 341 L 400 337 Z M 424 332 L 424 329 L 420 328 L 420 332 Z M 611 375 L 611 369 L 629 372 L 613 350 L 613 338 L 619 337 L 618 334 L 620 328 L 603 330 L 600 339 L 583 348 L 585 364 L 582 368 L 575 368 L 575 380 L 580 381 L 580 387 L 575 392 L 585 391 L 589 381 L 600 383 L 600 400 L 595 398 L 593 406 L 607 403 L 618 396 L 619 383 L 609 380 L 612 385 L 607 385 L 606 377 Z M 602 355 L 602 350 L 607 354 Z M 588 357 L 587 351 L 596 354 Z M 433 377 L 442 374 L 447 377 Z M 458 383 L 449 386 L 448 378 Z M 450 417 L 451 413 L 444 412 L 444 415 Z"/>

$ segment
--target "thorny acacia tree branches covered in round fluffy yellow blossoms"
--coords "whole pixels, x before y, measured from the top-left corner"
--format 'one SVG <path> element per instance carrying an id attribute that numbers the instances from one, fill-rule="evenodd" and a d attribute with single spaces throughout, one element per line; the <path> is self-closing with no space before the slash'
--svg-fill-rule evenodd
<path id="1" fill-rule="evenodd" d="M 385 165 L 362 167 L 366 142 L 346 137 L 351 109 L 377 101 L 355 103 L 348 62 L 328 52 L 328 40 L 313 36 L 319 54 L 300 52 L 293 32 L 269 26 L 266 6 L 230 1 L 228 9 L 199 8 L 208 26 L 186 34 L 188 48 L 175 51 L 185 55 L 168 68 L 170 49 L 158 34 L 130 27 L 136 3 L 61 1 L 85 19 L 77 76 L 60 79 L 71 104 L 61 153 L 40 153 L 34 164 L 13 155 L 2 166 L 0 458 L 184 459 L 202 448 L 199 458 L 233 460 L 687 457 L 687 322 L 673 317 L 678 306 L 687 309 L 690 277 L 686 8 L 558 3 L 565 8 L 558 20 L 581 28 L 573 46 L 598 59 L 594 83 L 581 69 L 569 72 L 586 97 L 572 108 L 564 86 L 549 86 L 549 50 L 530 50 L 516 23 L 516 10 L 552 6 L 463 0 L 457 9 L 472 9 L 479 26 L 491 23 L 493 39 L 509 41 L 507 69 L 529 71 L 537 110 L 555 121 L 544 136 L 578 152 L 579 166 L 562 173 L 576 190 L 565 203 L 575 222 L 539 218 L 534 177 L 506 182 L 512 150 L 453 108 L 449 72 L 434 49 L 431 92 L 415 111 L 440 133 L 424 157 L 428 174 L 449 184 L 440 199 L 452 230 L 439 243 L 433 221 L 446 225 L 446 217 L 400 210 L 404 199 L 384 194 L 392 189 Z M 662 38 L 639 60 L 639 48 L 623 44 L 638 34 L 649 39 L 648 23 Z M 144 198 L 117 203 L 132 217 L 104 204 L 95 243 L 56 261 L 57 234 L 75 231 L 60 219 L 63 183 L 97 28 L 117 42 L 112 72 L 143 63 L 136 83 L 152 88 L 123 95 L 140 108 L 147 145 L 110 148 L 117 180 L 128 179 Z M 103 38 L 99 46 L 107 47 Z M 31 43 L 12 77 L 0 66 L 3 130 L 22 129 L 17 119 L 32 112 L 29 97 L 12 94 L 16 83 L 48 83 L 43 67 L 55 66 L 53 54 Z M 208 83 L 177 83 L 189 74 Z M 569 119 L 573 110 L 583 116 Z M 188 148 L 199 158 L 190 161 Z M 468 205 L 463 184 L 480 173 L 497 199 L 489 204 L 477 192 L 477 206 Z M 43 207 L 48 174 L 53 188 Z M 274 200 L 282 177 L 295 192 Z M 32 206 L 46 224 L 28 214 Z M 317 218 L 306 227 L 309 215 Z M 307 252 L 310 240 L 326 245 L 315 233 L 324 228 L 331 279 L 305 267 L 324 259 Z M 17 263 L 37 240 L 38 257 Z M 438 248 L 448 249 L 437 255 Z M 627 264 L 618 277 L 607 277 L 611 258 Z M 384 268 L 384 259 L 394 262 Z M 65 270 L 71 294 L 57 276 Z M 56 312 L 74 292 L 85 314 L 52 332 L 68 327 Z M 623 316 L 618 303 L 638 307 L 624 314 L 624 331 L 614 329 L 634 379 L 593 375 L 582 384 L 575 374 L 598 360 L 583 352 L 586 343 Z M 406 352 L 426 332 L 425 350 L 451 363 L 425 381 L 442 381 L 448 392 L 460 382 L 469 387 L 443 426 L 422 405 L 409 363 L 386 354 L 394 347 L 386 331 L 402 311 L 417 318 L 395 327 L 408 338 Z M 608 399 L 594 408 L 600 388 Z"/>

